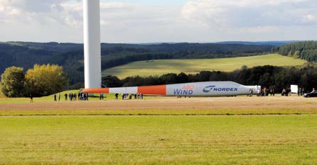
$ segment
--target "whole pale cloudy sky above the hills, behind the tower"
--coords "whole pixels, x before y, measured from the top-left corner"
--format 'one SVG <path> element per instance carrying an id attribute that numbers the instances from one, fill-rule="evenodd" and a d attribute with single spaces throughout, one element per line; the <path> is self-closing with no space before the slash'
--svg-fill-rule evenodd
<path id="1" fill-rule="evenodd" d="M 101 42 L 317 40 L 316 0 L 100 0 Z M 82 0 L 0 0 L 0 41 L 83 42 Z"/>

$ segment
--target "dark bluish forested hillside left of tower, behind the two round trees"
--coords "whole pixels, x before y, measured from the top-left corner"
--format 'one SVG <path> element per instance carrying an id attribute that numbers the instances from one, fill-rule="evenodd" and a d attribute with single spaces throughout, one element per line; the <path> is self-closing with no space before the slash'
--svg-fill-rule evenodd
<path id="1" fill-rule="evenodd" d="M 70 44 L 72 45 L 72 44 Z M 63 66 L 70 84 L 82 82 L 82 64 L 77 62 L 83 59 L 81 55 L 74 55 L 69 50 L 82 50 L 82 45 L 68 46 L 56 42 L 0 42 L 0 74 L 11 66 L 23 67 L 26 71 L 34 64 L 59 64 Z"/>

